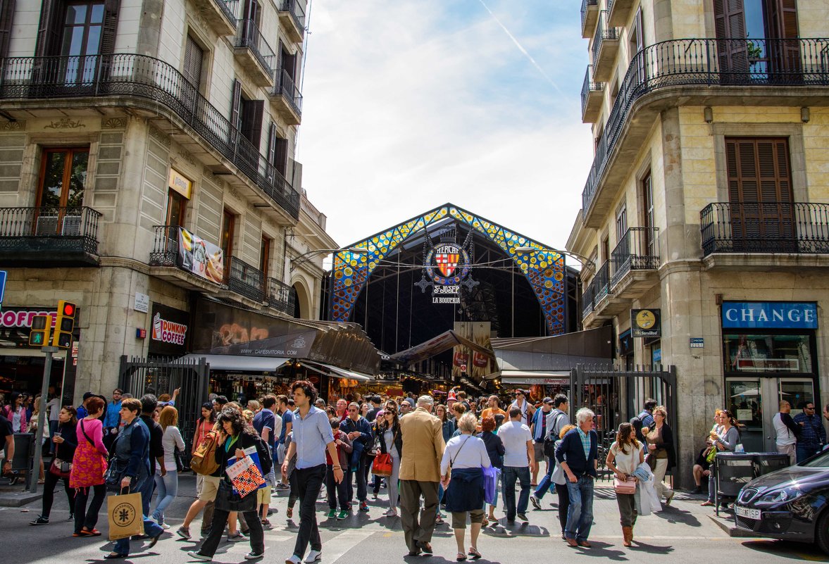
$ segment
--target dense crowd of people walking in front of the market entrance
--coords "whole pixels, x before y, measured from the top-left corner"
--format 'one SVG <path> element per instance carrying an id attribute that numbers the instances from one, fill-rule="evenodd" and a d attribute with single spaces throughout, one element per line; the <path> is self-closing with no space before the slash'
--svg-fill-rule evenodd
<path id="1" fill-rule="evenodd" d="M 564 394 L 537 405 L 521 389 L 506 405 L 495 395 L 473 401 L 460 390 L 448 393 L 442 404 L 432 396 L 414 398 L 409 393 L 339 398 L 328 405 L 312 383 L 298 381 L 289 396 L 267 395 L 244 405 L 211 394 L 187 437 L 178 428 L 177 395 L 173 390 L 160 398 L 153 393 L 133 398 L 115 389 L 108 400 L 90 392 L 78 407 L 61 407 L 56 397 L 50 398 L 44 450 L 52 456 L 46 471 L 40 470 L 42 509 L 31 524 L 50 523 L 55 489 L 62 481 L 73 536 L 98 537 L 99 511 L 109 486 L 118 490 L 113 493 L 140 494 L 143 534 L 114 542 L 105 558 L 126 557 L 131 541 L 153 547 L 171 528 L 167 510 L 177 497 L 188 441 L 196 500 L 175 533 L 195 540 L 191 526 L 201 513 L 201 542 L 189 555 L 205 562 L 212 560 L 225 535 L 229 542 L 250 542 L 245 558 L 263 557 L 264 529 L 272 526 L 269 516 L 275 509 L 270 500 L 276 490 L 288 494 L 288 519 L 299 502 L 297 539 L 286 564 L 322 557 L 316 504 L 323 486 L 326 518 L 343 520 L 352 511 L 369 512 L 369 494 L 377 500 L 385 485 L 384 517 L 400 518 L 410 555 L 432 554 L 434 528 L 451 516 L 458 562 L 482 557 L 479 536 L 482 528 L 499 522 L 499 504 L 507 526 L 516 520 L 528 523 L 529 505 L 541 509 L 550 489 L 557 497 L 561 538 L 571 547 L 589 548 L 600 463 L 614 478 L 626 547 L 633 542 L 637 518 L 664 509 L 674 495 L 665 483 L 676 464 L 674 435 L 666 408 L 650 399 L 604 448 L 594 412 L 583 407 L 571 421 Z M 0 410 L 6 461 L 13 457 L 12 434 L 32 430 L 40 404 L 39 398 L 30 402 L 19 394 L 9 400 Z M 774 417 L 778 450 L 800 460 L 825 445 L 826 432 L 812 403 L 804 404 L 797 417 L 789 412 L 783 401 Z M 824 415 L 829 418 L 829 412 Z M 728 410 L 715 412 L 694 465 L 697 493 L 703 480 L 709 482 L 709 499 L 703 505 L 715 503 L 713 456 L 739 450 L 741 427 Z M 226 470 L 253 452 L 265 484 L 255 494 L 240 497 Z M 4 464 L 3 472 L 7 470 Z"/>

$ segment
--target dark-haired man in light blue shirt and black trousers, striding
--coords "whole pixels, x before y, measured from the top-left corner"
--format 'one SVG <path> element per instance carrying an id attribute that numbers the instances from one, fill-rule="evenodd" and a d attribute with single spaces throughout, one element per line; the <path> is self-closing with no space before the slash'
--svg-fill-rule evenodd
<path id="1" fill-rule="evenodd" d="M 311 552 L 305 562 L 316 562 L 322 558 L 322 539 L 319 537 L 316 504 L 322 481 L 325 480 L 325 451 L 331 460 L 339 460 L 337 445 L 327 413 L 313 407 L 317 399 L 317 388 L 308 380 L 298 380 L 291 384 L 293 402 L 297 411 L 293 412 L 293 441 L 285 453 L 282 463 L 282 475 L 288 475 L 288 460 L 297 455 L 297 465 L 293 470 L 299 495 L 299 532 L 293 547 L 293 555 L 285 560 L 286 564 L 300 564 L 311 543 Z M 342 482 L 342 466 L 334 465 L 334 480 Z"/>

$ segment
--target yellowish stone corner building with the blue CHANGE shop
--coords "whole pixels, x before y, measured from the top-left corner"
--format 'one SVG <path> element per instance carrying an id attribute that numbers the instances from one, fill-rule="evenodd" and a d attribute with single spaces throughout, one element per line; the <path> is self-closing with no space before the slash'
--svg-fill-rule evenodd
<path id="1" fill-rule="evenodd" d="M 584 327 L 613 326 L 618 364 L 676 366 L 689 470 L 715 408 L 765 451 L 781 398 L 829 400 L 827 10 L 582 2 L 595 157 L 567 248 L 590 258 Z M 632 336 L 639 309 L 660 337 Z"/>

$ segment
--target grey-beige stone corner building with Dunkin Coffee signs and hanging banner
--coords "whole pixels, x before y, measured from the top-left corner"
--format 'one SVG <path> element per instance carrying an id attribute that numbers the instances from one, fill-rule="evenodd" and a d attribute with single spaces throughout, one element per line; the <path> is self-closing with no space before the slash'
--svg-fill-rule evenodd
<path id="1" fill-rule="evenodd" d="M 197 299 L 318 319 L 322 254 L 291 267 L 336 247 L 293 158 L 305 9 L 0 2 L 0 388 L 40 388 L 28 314 L 59 299 L 80 317 L 51 383 L 75 401 L 124 354 L 186 352 L 153 318 Z"/>

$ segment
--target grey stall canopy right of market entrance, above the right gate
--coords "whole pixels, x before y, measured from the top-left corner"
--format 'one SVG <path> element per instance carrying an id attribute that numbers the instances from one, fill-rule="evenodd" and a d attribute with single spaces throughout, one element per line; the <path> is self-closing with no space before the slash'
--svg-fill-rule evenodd
<path id="1" fill-rule="evenodd" d="M 576 364 L 611 364 L 612 335 L 610 327 L 599 327 L 552 337 L 492 339 L 492 349 L 502 377 L 512 371 L 511 378 L 531 383 L 532 379 L 546 378 L 539 375 L 543 373 L 561 378 L 560 374 L 570 374 Z"/>

